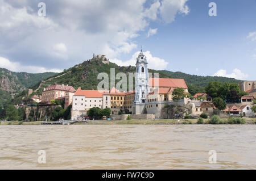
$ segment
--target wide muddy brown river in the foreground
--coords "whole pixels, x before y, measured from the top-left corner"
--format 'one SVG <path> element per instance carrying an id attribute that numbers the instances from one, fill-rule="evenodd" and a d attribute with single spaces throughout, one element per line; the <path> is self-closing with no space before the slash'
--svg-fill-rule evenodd
<path id="1" fill-rule="evenodd" d="M 256 169 L 256 127 L 0 125 L 0 169 Z"/>

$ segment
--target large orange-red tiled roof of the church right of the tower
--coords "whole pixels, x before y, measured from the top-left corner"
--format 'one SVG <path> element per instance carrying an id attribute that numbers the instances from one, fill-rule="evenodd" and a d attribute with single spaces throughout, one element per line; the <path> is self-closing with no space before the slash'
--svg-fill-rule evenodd
<path id="1" fill-rule="evenodd" d="M 154 83 L 157 78 L 150 78 L 149 79 L 149 86 L 155 86 Z M 157 81 L 156 81 L 157 83 Z M 188 89 L 184 79 L 178 78 L 158 78 L 158 86 L 159 87 L 181 87 L 183 89 Z"/>

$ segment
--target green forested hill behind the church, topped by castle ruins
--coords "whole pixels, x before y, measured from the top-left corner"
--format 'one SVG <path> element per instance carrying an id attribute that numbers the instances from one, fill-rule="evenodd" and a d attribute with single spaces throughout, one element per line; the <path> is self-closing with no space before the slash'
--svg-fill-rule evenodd
<path id="1" fill-rule="evenodd" d="M 126 73 L 128 77 L 129 72 L 135 72 L 135 66 L 118 66 L 112 62 L 109 64 L 104 64 L 102 62 L 102 58 L 94 57 L 91 60 L 84 61 L 79 65 L 73 66 L 68 70 L 64 70 L 62 73 L 54 75 L 53 77 L 39 82 L 35 86 L 32 87 L 33 90 L 36 90 L 35 94 L 41 94 L 44 87 L 53 84 L 64 84 L 73 86 L 75 89 L 81 87 L 81 89 L 89 89 L 96 90 L 97 85 L 101 80 L 97 79 L 99 73 L 107 73 L 110 78 L 110 69 L 115 69 L 115 74 L 119 72 Z M 196 92 L 203 92 L 204 87 L 211 81 L 220 81 L 220 82 L 239 82 L 233 78 L 225 78 L 225 77 L 204 77 L 198 75 L 189 75 L 181 72 L 172 72 L 167 70 L 148 70 L 150 73 L 159 73 L 160 78 L 183 78 L 185 79 L 189 91 L 191 94 L 195 94 Z M 118 80 L 115 81 L 117 83 Z"/>

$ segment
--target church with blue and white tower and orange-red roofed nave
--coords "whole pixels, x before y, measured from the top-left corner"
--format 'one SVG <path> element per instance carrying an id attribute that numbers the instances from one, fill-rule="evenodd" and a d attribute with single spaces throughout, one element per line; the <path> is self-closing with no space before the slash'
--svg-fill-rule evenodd
<path id="1" fill-rule="evenodd" d="M 141 50 L 136 62 L 135 98 L 131 108 L 133 114 L 154 113 L 155 117 L 160 118 L 166 103 L 172 102 L 181 106 L 187 104 L 186 98 L 177 102 L 172 100 L 172 92 L 178 87 L 185 94 L 188 93 L 184 79 L 149 78 L 147 65 L 147 57 Z"/>

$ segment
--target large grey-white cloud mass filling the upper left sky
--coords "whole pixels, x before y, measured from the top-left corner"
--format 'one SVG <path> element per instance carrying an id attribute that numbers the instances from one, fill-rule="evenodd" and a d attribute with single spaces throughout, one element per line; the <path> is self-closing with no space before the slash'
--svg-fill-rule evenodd
<path id="1" fill-rule="evenodd" d="M 114 59 L 137 48 L 135 37 L 152 21 L 171 23 L 177 13 L 188 14 L 186 2 L 44 0 L 47 16 L 41 17 L 34 0 L 0 0 L 0 56 L 21 65 L 44 62 L 57 69 L 93 53 Z"/>

